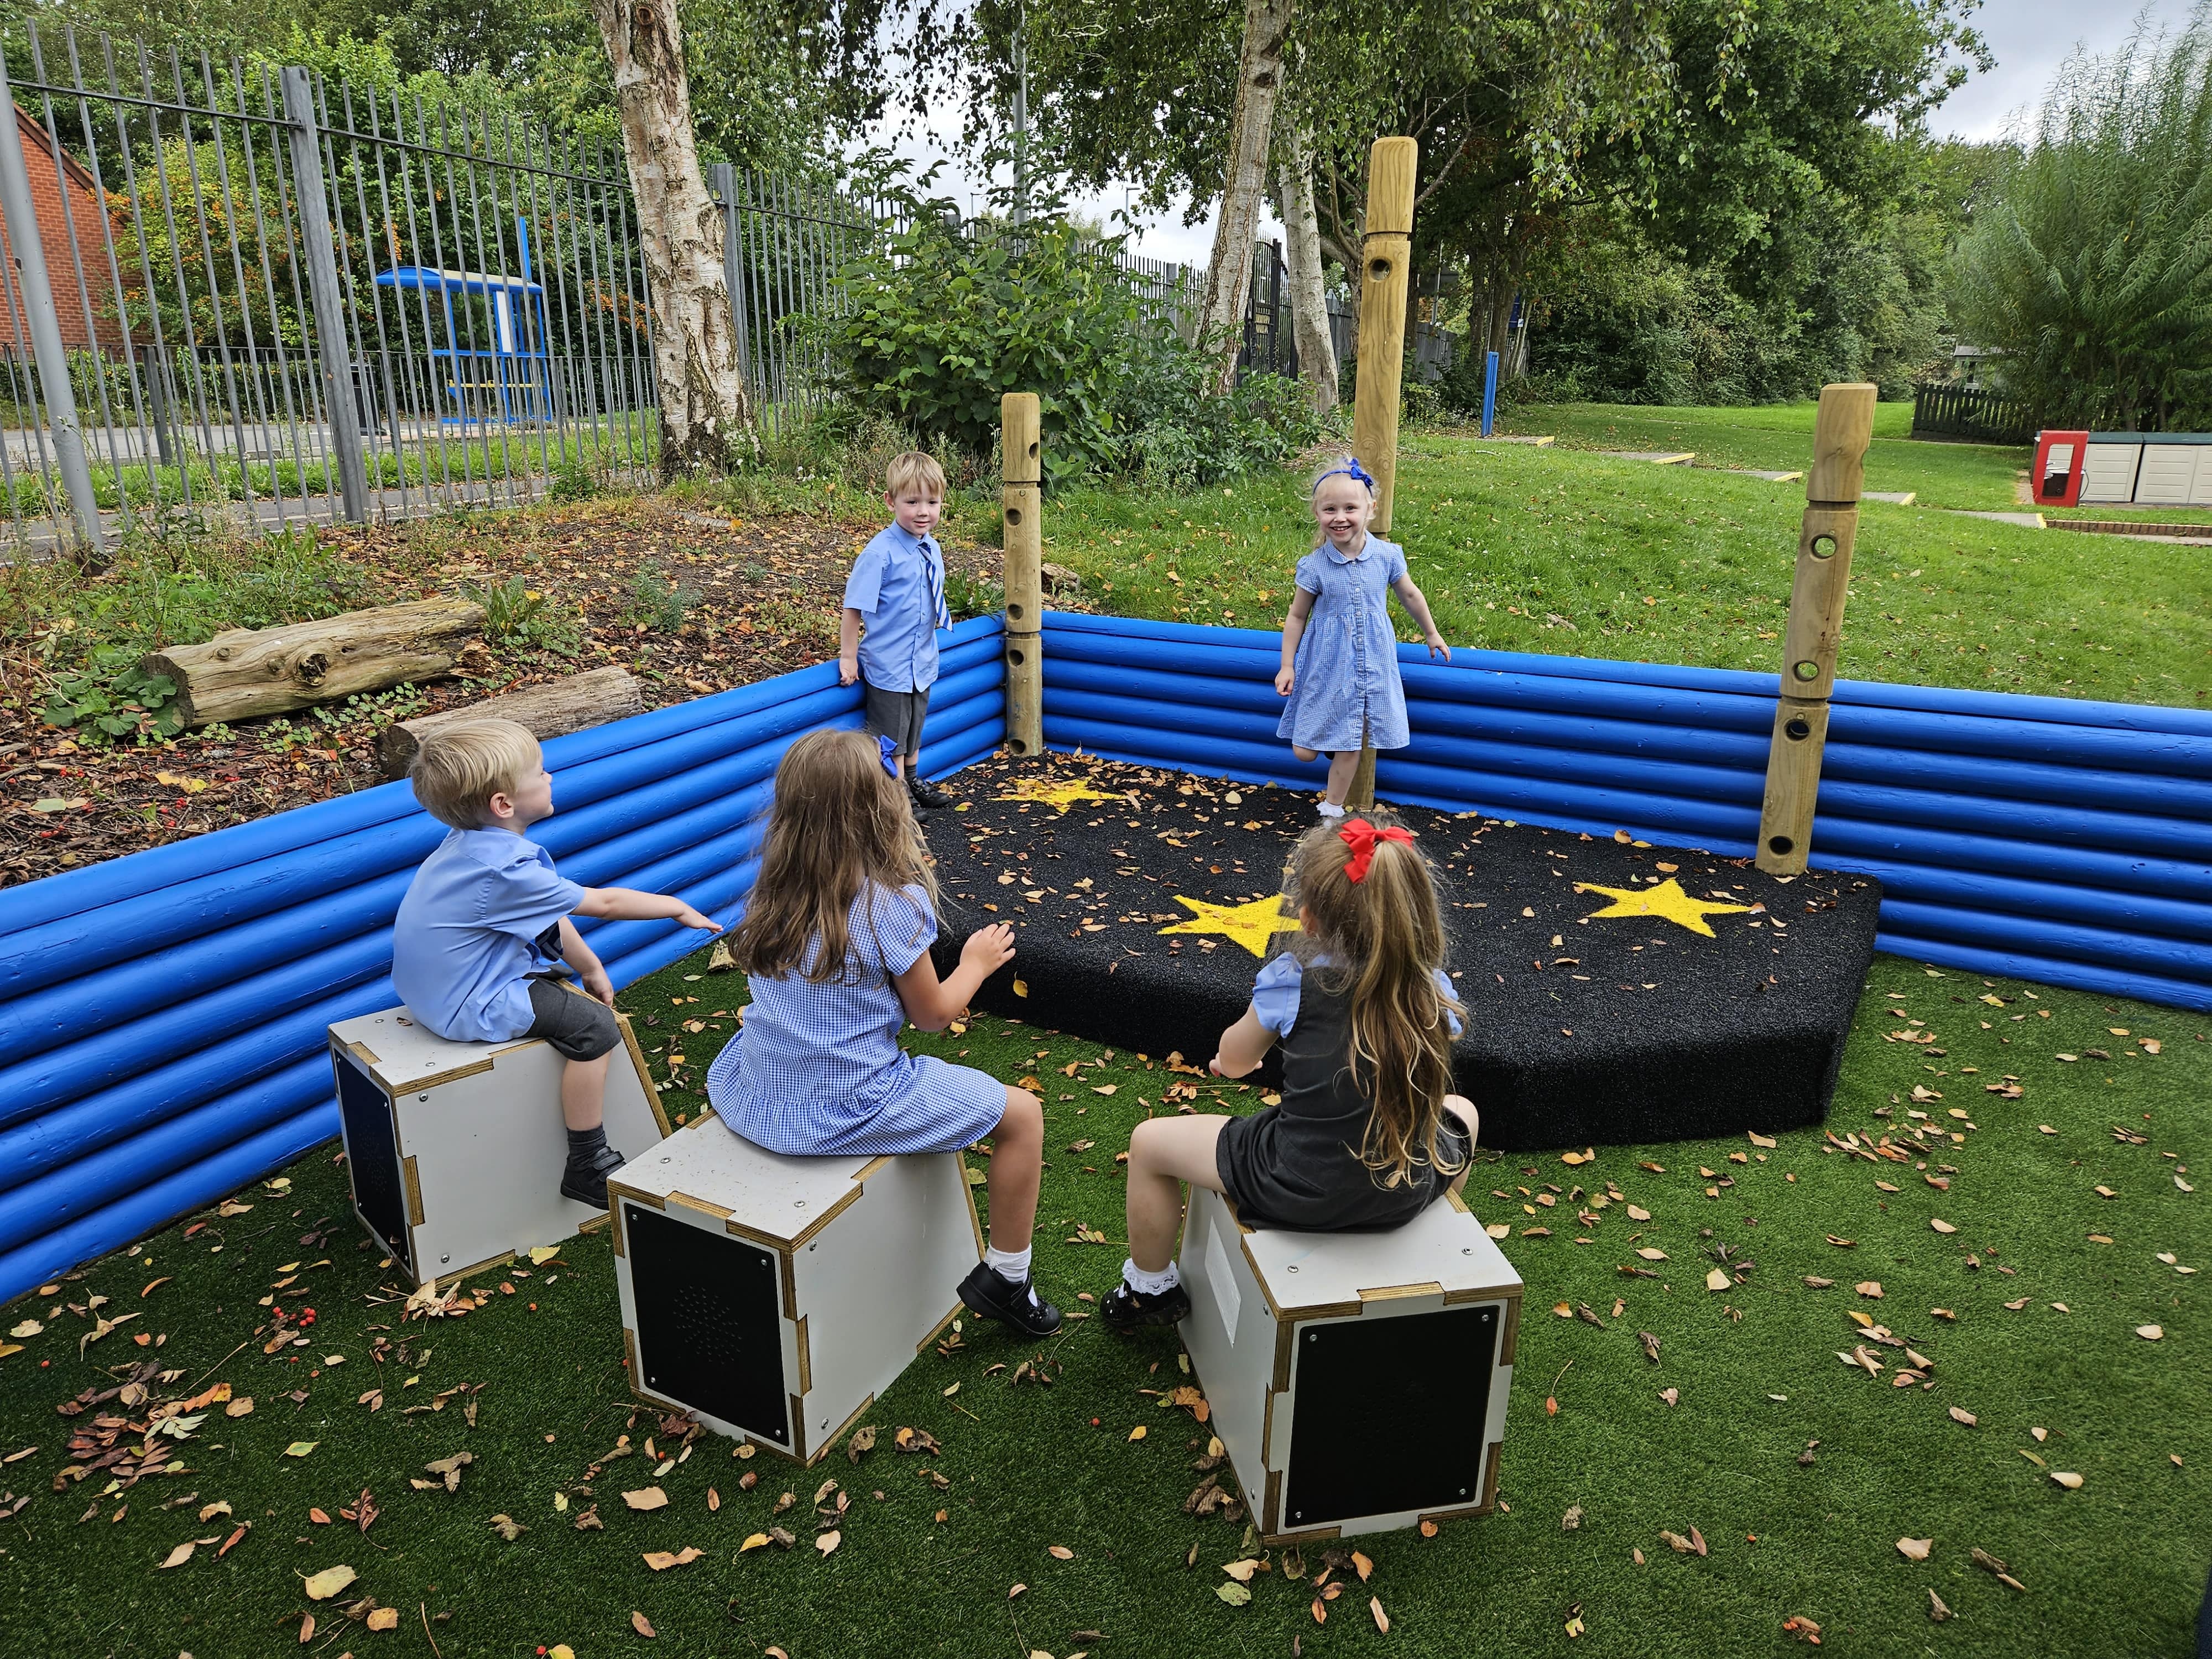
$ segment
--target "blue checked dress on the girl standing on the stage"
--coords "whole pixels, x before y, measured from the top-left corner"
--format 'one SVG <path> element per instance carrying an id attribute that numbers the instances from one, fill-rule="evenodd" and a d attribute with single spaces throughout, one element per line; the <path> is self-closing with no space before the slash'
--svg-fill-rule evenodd
<path id="1" fill-rule="evenodd" d="M 1356 560 L 1327 542 L 1298 560 L 1298 586 L 1316 597 L 1298 637 L 1296 684 L 1276 737 L 1325 754 L 1356 750 L 1363 732 L 1378 750 L 1413 741 L 1398 677 L 1398 630 L 1389 619 L 1389 591 L 1402 580 L 1405 549 L 1380 535 L 1369 535 Z"/>

